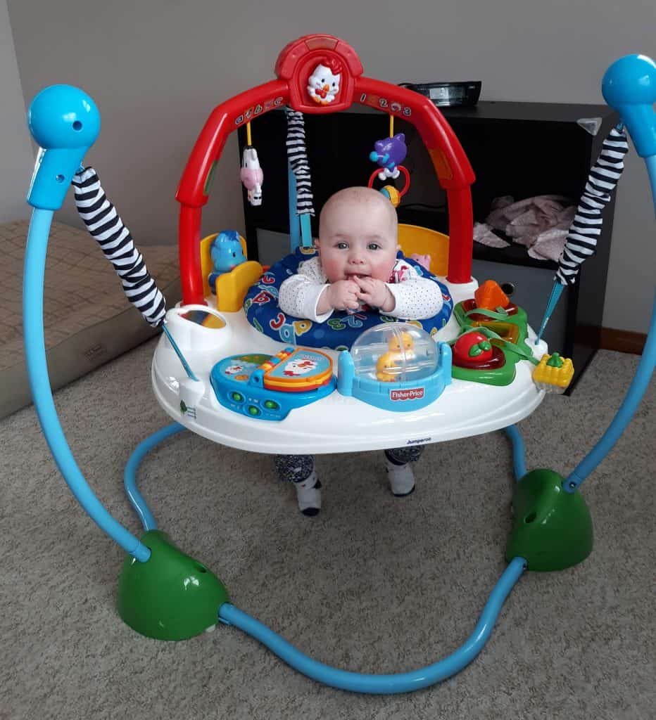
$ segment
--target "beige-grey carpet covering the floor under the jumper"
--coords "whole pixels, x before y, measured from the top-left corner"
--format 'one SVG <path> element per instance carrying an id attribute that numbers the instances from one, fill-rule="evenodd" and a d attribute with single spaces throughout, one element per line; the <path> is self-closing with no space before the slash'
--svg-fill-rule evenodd
<path id="1" fill-rule="evenodd" d="M 136 444 L 170 422 L 150 388 L 153 342 L 56 394 L 98 497 L 130 531 Z M 637 365 L 601 352 L 571 398 L 520 424 L 527 464 L 567 474 L 608 426 Z M 0 422 L 0 718 L 600 719 L 656 716 L 655 383 L 583 486 L 595 549 L 529 573 L 486 647 L 445 683 L 402 696 L 318 685 L 241 631 L 181 643 L 138 636 L 115 611 L 123 552 L 79 508 L 32 408 Z M 270 458 L 182 433 L 143 463 L 161 529 L 226 583 L 237 607 L 318 660 L 400 672 L 453 652 L 505 562 L 510 449 L 502 433 L 432 445 L 417 492 L 389 495 L 380 455 L 321 456 L 321 516 L 296 510 Z"/>

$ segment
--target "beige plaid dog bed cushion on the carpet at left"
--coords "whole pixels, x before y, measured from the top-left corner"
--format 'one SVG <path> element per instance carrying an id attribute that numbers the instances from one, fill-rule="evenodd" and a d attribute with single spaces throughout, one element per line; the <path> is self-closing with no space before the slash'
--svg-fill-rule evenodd
<path id="1" fill-rule="evenodd" d="M 29 222 L 0 225 L 0 418 L 32 402 L 22 328 Z M 180 299 L 177 246 L 140 248 L 172 307 Z M 120 279 L 86 230 L 53 222 L 45 262 L 43 324 L 53 390 L 159 333 L 125 298 Z"/>

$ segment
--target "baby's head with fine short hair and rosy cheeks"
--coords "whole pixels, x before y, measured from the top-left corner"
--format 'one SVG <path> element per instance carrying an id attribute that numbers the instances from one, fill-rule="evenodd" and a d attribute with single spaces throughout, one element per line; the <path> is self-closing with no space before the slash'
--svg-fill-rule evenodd
<path id="1" fill-rule="evenodd" d="M 347 187 L 324 204 L 316 247 L 329 282 L 353 275 L 388 282 L 397 243 L 396 210 L 384 194 Z"/>

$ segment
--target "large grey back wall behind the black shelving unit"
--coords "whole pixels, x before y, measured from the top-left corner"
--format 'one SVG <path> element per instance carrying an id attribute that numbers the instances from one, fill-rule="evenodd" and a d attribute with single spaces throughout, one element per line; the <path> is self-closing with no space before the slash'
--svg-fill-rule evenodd
<path id="1" fill-rule="evenodd" d="M 278 52 L 300 35 L 343 37 L 368 76 L 393 83 L 479 78 L 484 99 L 496 100 L 602 102 L 600 78 L 612 60 L 656 55 L 653 0 L 440 5 L 9 0 L 9 13 L 25 98 L 56 82 L 94 96 L 103 130 L 88 160 L 146 244 L 177 237 L 174 193 L 210 110 L 272 78 Z M 257 123 L 253 131 L 257 141 Z M 243 226 L 238 161 L 232 138 L 204 212 L 207 232 Z M 629 161 L 625 175 L 604 325 L 644 332 L 656 266 L 653 212 L 642 161 Z M 76 222 L 70 201 L 63 219 Z"/>

